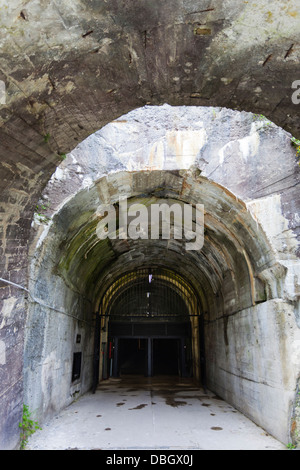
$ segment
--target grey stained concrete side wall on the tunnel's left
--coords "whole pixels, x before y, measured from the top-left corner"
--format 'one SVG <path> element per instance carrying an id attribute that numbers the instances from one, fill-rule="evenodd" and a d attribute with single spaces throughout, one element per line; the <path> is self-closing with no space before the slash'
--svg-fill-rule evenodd
<path id="1" fill-rule="evenodd" d="M 58 287 L 54 279 L 48 279 L 46 289 L 38 282 L 34 289 L 35 300 L 29 308 L 24 345 L 23 400 L 39 423 L 90 390 L 93 380 L 91 306 L 74 292 L 68 292 L 67 286 Z M 59 299 L 57 307 L 53 305 L 53 294 Z M 78 379 L 72 380 L 73 354 L 77 352 L 82 354 L 81 373 Z"/>

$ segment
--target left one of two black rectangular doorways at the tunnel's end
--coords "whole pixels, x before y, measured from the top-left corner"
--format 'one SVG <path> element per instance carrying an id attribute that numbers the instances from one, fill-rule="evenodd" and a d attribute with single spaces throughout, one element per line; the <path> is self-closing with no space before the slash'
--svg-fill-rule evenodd
<path id="1" fill-rule="evenodd" d="M 145 375 L 147 370 L 147 340 L 120 338 L 119 367 L 123 375 Z"/>

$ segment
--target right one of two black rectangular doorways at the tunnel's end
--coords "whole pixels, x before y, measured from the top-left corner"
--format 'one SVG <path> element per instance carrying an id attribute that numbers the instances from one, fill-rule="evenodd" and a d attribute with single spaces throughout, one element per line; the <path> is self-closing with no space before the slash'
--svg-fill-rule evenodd
<path id="1" fill-rule="evenodd" d="M 153 373 L 154 375 L 179 375 L 178 339 L 157 338 L 153 340 Z"/>

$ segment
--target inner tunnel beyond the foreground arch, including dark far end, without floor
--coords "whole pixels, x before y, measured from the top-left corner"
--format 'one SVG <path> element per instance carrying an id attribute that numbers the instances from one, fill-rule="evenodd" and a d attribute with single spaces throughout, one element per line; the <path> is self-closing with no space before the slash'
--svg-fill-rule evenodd
<path id="1" fill-rule="evenodd" d="M 290 440 L 299 259 L 279 166 L 282 181 L 296 178 L 290 135 L 224 108 L 139 108 L 68 154 L 29 249 L 24 399 L 41 422 L 109 377 L 172 374 Z M 151 219 L 143 237 L 100 239 L 99 207 L 115 209 L 120 235 L 124 198 L 201 204 L 203 246 L 187 250 L 174 231 L 151 239 Z"/>

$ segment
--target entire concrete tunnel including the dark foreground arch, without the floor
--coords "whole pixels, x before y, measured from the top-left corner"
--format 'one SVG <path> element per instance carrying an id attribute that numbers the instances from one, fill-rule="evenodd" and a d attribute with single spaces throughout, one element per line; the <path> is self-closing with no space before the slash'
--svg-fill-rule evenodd
<path id="1" fill-rule="evenodd" d="M 0 449 L 24 403 L 42 424 L 124 373 L 111 346 L 156 374 L 166 342 L 174 373 L 299 446 L 298 0 L 2 3 Z M 203 249 L 100 242 L 119 196 L 203 204 Z M 138 319 L 148 294 L 172 315 Z"/>

